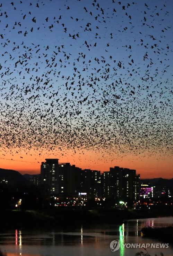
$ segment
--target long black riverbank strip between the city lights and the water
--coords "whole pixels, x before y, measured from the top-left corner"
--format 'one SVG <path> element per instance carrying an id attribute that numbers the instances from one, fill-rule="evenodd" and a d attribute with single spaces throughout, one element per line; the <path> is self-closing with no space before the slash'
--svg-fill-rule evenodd
<path id="1" fill-rule="evenodd" d="M 146 211 L 120 209 L 1 210 L 1 228 L 76 226 L 93 223 L 122 223 L 123 220 L 156 217 Z"/>

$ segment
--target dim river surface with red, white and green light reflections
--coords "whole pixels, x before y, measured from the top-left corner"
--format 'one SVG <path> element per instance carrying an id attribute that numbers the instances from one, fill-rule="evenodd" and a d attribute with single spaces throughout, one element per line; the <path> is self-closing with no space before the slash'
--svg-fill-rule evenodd
<path id="1" fill-rule="evenodd" d="M 135 256 L 138 248 L 123 247 L 124 243 L 161 243 L 154 239 L 142 237 L 144 226 L 158 227 L 173 224 L 173 217 L 151 218 L 124 221 L 122 225 L 103 224 L 81 226 L 80 228 L 63 228 L 52 230 L 9 230 L 0 233 L 0 248 L 7 256 L 90 256 L 112 255 Z M 118 239 L 120 249 L 112 252 L 110 242 Z M 173 255 L 173 247 L 147 249 L 151 255 Z M 144 250 L 143 250 L 144 251 Z"/>

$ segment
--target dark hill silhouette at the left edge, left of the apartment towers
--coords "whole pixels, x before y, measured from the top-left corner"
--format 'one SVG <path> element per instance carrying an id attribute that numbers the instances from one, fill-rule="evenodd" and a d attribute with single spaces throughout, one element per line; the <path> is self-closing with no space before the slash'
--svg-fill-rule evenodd
<path id="1" fill-rule="evenodd" d="M 29 184 L 28 180 L 18 171 L 0 168 L 0 181 L 3 179 L 7 179 L 10 186 L 26 186 Z"/>

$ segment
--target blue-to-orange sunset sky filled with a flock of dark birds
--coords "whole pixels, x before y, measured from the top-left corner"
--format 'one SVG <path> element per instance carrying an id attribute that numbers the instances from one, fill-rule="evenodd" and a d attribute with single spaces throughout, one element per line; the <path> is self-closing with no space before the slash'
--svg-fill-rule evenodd
<path id="1" fill-rule="evenodd" d="M 173 178 L 172 1 L 0 5 L 0 168 Z"/>

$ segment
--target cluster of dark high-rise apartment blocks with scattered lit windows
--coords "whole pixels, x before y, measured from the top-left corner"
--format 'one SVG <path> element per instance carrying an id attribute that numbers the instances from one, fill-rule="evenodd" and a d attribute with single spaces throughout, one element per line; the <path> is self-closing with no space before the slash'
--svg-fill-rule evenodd
<path id="1" fill-rule="evenodd" d="M 140 174 L 136 170 L 115 166 L 109 172 L 82 170 L 70 163 L 59 163 L 56 158 L 41 164 L 40 185 L 45 197 L 76 197 L 85 193 L 87 199 L 119 198 L 138 200 Z"/>

